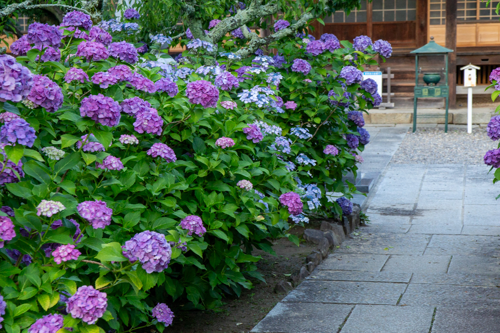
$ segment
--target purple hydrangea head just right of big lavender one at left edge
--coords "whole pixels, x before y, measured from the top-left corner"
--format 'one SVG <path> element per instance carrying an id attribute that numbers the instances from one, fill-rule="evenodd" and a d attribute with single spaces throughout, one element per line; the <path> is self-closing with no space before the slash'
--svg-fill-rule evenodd
<path id="1" fill-rule="evenodd" d="M 64 96 L 57 83 L 46 76 L 34 75 L 33 86 L 26 98 L 35 105 L 44 107 L 47 112 L 55 112 L 61 107 Z"/>

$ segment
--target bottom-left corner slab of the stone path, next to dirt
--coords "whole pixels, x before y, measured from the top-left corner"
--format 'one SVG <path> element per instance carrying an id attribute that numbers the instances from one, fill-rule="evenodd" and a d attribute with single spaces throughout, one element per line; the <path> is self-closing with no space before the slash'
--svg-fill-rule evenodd
<path id="1" fill-rule="evenodd" d="M 337 333 L 353 305 L 278 303 L 251 333 Z"/>

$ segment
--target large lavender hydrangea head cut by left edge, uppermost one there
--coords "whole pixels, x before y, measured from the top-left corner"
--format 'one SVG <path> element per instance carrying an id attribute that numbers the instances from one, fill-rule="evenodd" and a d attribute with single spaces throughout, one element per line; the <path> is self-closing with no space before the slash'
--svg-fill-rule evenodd
<path id="1" fill-rule="evenodd" d="M 20 102 L 33 86 L 33 77 L 13 56 L 0 55 L 0 101 Z"/>

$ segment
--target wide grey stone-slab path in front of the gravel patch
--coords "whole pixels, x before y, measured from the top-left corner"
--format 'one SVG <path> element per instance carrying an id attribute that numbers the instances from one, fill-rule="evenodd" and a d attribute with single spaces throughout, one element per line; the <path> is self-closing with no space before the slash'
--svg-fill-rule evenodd
<path id="1" fill-rule="evenodd" d="M 372 223 L 251 332 L 500 332 L 500 188 L 487 170 L 389 164 Z"/>

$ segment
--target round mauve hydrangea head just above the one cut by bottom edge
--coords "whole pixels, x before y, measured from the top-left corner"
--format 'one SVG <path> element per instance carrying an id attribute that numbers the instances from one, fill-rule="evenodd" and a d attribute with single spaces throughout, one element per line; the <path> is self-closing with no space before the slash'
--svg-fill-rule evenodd
<path id="1" fill-rule="evenodd" d="M 106 293 L 95 290 L 92 286 L 81 286 L 66 302 L 66 312 L 72 318 L 79 318 L 88 325 L 95 324 L 104 315 L 107 308 Z"/>

